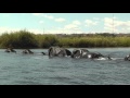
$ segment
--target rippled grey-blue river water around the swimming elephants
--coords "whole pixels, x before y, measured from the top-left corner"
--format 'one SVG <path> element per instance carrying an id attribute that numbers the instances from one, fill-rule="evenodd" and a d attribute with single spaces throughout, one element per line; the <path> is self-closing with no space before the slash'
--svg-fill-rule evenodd
<path id="1" fill-rule="evenodd" d="M 40 53 L 47 49 L 15 50 L 0 49 L 0 85 L 130 85 L 130 61 L 123 60 L 130 48 L 88 48 L 113 60 L 49 59 Z"/>

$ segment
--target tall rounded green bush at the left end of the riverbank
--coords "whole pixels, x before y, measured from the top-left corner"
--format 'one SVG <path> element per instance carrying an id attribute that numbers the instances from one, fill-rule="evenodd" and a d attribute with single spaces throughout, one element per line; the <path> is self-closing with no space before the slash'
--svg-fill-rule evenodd
<path id="1" fill-rule="evenodd" d="M 0 47 L 37 48 L 37 40 L 31 33 L 20 30 L 11 34 L 2 34 L 0 36 Z"/>

